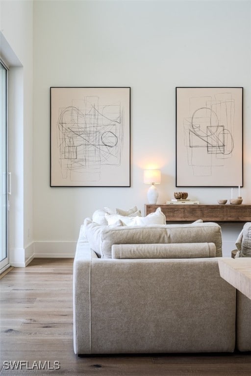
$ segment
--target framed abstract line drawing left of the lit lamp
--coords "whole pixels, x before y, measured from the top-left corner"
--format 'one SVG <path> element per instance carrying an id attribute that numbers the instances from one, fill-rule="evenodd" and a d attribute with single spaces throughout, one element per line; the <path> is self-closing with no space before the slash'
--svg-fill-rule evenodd
<path id="1" fill-rule="evenodd" d="M 50 88 L 50 186 L 130 187 L 130 88 Z"/>

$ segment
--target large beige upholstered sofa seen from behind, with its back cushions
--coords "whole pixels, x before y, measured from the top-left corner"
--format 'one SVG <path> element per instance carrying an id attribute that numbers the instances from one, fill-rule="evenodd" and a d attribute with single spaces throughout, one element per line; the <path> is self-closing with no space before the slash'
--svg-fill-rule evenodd
<path id="1" fill-rule="evenodd" d="M 220 226 L 96 225 L 75 253 L 76 354 L 251 350 L 251 301 L 219 274 Z"/>

